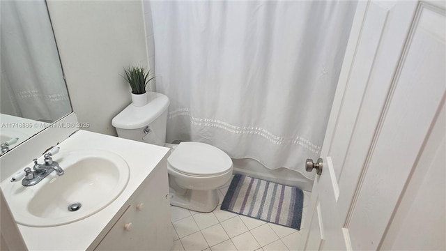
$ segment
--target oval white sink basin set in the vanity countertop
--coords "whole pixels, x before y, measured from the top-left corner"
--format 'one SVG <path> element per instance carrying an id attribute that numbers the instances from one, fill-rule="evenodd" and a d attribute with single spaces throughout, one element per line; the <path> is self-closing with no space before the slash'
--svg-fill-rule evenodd
<path id="1" fill-rule="evenodd" d="M 127 162 L 108 151 L 59 153 L 53 160 L 64 169 L 63 176 L 52 172 L 29 187 L 24 187 L 21 181 L 9 184 L 6 181 L 2 185 L 17 223 L 52 227 L 87 218 L 112 203 L 130 176 Z M 32 166 L 33 163 L 29 165 Z"/>

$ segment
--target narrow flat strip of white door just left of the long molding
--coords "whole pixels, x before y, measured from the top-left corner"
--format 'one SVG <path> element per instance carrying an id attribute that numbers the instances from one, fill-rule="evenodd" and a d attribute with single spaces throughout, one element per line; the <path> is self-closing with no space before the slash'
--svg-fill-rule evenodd
<path id="1" fill-rule="evenodd" d="M 370 5 L 376 5 L 371 2 Z M 351 212 L 355 206 L 357 189 L 369 168 L 370 155 L 376 146 L 378 128 L 383 120 L 383 109 L 390 100 L 390 90 L 397 64 L 401 58 L 403 47 L 410 29 L 410 22 L 417 6 L 416 1 L 403 1 L 391 6 L 387 11 L 385 31 L 380 38 L 377 59 L 372 69 L 369 85 L 363 95 L 360 113 L 357 114 L 357 124 L 344 155 L 344 169 L 339 177 L 339 188 L 342 192 L 339 198 L 339 217 L 348 227 Z M 379 8 L 384 8 L 379 6 Z M 383 10 L 384 11 L 384 10 Z M 373 22 L 371 17 L 369 22 Z M 367 17 L 366 17 L 367 22 Z M 339 123 L 343 123 L 339 121 Z"/>

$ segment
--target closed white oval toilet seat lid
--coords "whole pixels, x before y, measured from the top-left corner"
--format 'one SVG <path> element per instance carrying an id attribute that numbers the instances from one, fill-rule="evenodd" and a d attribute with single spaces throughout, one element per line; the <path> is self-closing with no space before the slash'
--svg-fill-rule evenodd
<path id="1" fill-rule="evenodd" d="M 176 172 L 199 177 L 225 174 L 233 165 L 224 151 L 200 142 L 181 142 L 167 162 Z"/>

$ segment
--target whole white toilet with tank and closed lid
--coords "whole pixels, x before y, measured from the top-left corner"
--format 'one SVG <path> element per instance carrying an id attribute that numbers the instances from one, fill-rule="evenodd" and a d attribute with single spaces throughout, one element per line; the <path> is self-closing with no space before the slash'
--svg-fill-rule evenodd
<path id="1" fill-rule="evenodd" d="M 130 104 L 112 120 L 118 137 L 139 142 L 173 146 L 167 158 L 171 204 L 193 211 L 213 211 L 219 202 L 217 188 L 232 176 L 229 155 L 215 146 L 199 142 L 166 144 L 169 98 L 148 93 L 148 104 Z"/>

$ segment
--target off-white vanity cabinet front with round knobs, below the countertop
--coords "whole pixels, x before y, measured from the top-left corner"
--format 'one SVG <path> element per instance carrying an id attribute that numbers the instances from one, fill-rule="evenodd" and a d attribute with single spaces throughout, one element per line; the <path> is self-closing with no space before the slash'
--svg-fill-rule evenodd
<path id="1" fill-rule="evenodd" d="M 120 211 L 124 212 L 94 250 L 170 250 L 168 194 L 167 167 L 157 165 L 123 205 Z"/>

